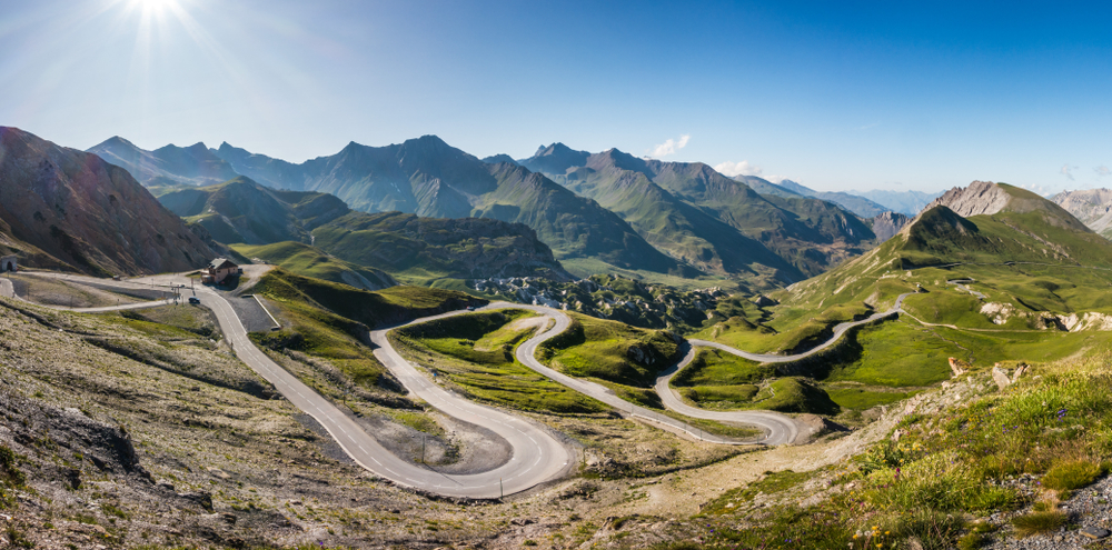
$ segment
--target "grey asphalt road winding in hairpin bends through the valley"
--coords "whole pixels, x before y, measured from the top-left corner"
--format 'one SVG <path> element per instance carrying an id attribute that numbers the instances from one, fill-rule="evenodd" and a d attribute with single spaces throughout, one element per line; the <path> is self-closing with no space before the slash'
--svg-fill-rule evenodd
<path id="1" fill-rule="evenodd" d="M 141 283 L 127 280 L 111 281 L 91 277 L 60 273 L 32 272 L 31 274 L 72 280 L 75 282 L 91 282 L 99 286 L 109 286 L 119 289 L 149 289 L 152 286 L 172 288 L 175 286 L 182 284 L 183 282 L 189 282 L 188 279 L 180 274 L 143 278 L 145 282 Z M 149 281 L 149 284 L 146 281 Z M 364 431 L 364 429 L 345 411 L 340 410 L 332 402 L 321 397 L 315 390 L 298 380 L 295 376 L 290 374 L 284 368 L 275 363 L 269 357 L 266 356 L 266 353 L 260 351 L 254 342 L 251 342 L 239 317 L 220 292 L 207 287 L 182 290 L 185 292 L 193 292 L 199 297 L 203 297 L 201 299 L 201 304 L 209 308 L 214 312 L 225 338 L 227 338 L 228 342 L 232 347 L 232 350 L 245 364 L 255 370 L 260 377 L 272 383 L 292 406 L 316 419 L 317 422 L 319 422 L 328 431 L 332 439 L 356 463 L 381 478 L 389 479 L 399 486 L 428 491 L 440 496 L 500 498 L 505 494 L 525 491 L 545 481 L 556 479 L 569 472 L 573 468 L 570 464 L 573 462 L 573 453 L 560 444 L 546 430 L 514 414 L 475 403 L 457 396 L 454 392 L 445 390 L 434 381 L 429 380 L 428 377 L 423 374 L 414 364 L 401 358 L 397 350 L 395 350 L 390 344 L 389 338 L 387 337 L 387 332 L 390 329 L 376 330 L 371 332 L 371 341 L 378 346 L 378 349 L 375 350 L 375 356 L 390 370 L 391 373 L 394 373 L 394 376 L 398 378 L 406 389 L 411 391 L 417 398 L 425 400 L 430 406 L 439 409 L 446 414 L 489 429 L 499 437 L 504 438 L 513 448 L 513 454 L 508 462 L 493 470 L 475 474 L 446 474 L 436 471 L 435 468 L 424 464 L 415 464 L 408 460 L 400 459 L 385 449 L 378 443 L 378 441 Z M 0 294 L 6 297 L 13 296 L 12 286 L 9 280 L 0 279 Z M 871 322 L 875 319 L 900 311 L 900 306 L 903 298 L 909 294 L 902 294 L 896 300 L 895 307 L 887 312 L 876 313 L 865 320 L 838 324 L 835 327 L 834 337 L 831 341 L 825 342 L 823 346 L 820 346 L 807 353 L 801 353 L 797 356 L 765 356 L 747 353 L 727 346 L 705 342 L 702 340 L 696 340 L 692 343 L 694 346 L 715 347 L 756 361 L 791 361 L 825 349 L 855 326 Z M 172 303 L 172 300 L 158 300 L 103 308 L 53 309 L 75 312 L 101 312 L 123 309 L 153 308 L 168 303 Z M 764 438 L 755 442 L 745 442 L 707 434 L 698 428 L 661 414 L 658 411 L 637 407 L 628 401 L 625 401 L 618 398 L 610 389 L 602 384 L 576 379 L 557 372 L 556 370 L 550 369 L 537 361 L 535 354 L 537 347 L 540 343 L 559 334 L 570 326 L 570 318 L 563 311 L 542 306 L 496 302 L 483 309 L 492 310 L 500 308 L 527 309 L 546 316 L 554 321 L 550 328 L 534 336 L 518 347 L 517 358 L 523 364 L 558 383 L 597 399 L 606 404 L 609 404 L 610 407 L 622 410 L 623 412 L 628 411 L 631 416 L 648 420 L 662 429 L 675 433 L 686 433 L 695 439 L 724 444 L 781 444 L 793 442 L 798 437 L 798 424 L 793 419 L 784 414 L 768 411 L 705 411 L 684 403 L 675 394 L 671 387 L 668 387 L 668 381 L 675 372 L 691 361 L 694 357 L 693 350 L 688 351 L 683 361 L 674 366 L 665 374 L 662 374 L 662 377 L 657 380 L 656 389 L 661 393 L 662 399 L 664 399 L 665 404 L 677 412 L 694 418 L 742 422 L 757 426 L 765 430 L 766 433 Z M 454 311 L 439 316 L 427 317 L 415 320 L 413 323 L 426 322 L 460 313 L 466 313 L 466 311 Z"/>

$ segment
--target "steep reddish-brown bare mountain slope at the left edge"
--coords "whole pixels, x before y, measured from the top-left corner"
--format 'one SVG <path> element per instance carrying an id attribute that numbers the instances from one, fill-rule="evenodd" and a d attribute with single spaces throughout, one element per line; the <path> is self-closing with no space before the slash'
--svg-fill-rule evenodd
<path id="1" fill-rule="evenodd" d="M 217 252 L 127 170 L 0 127 L 0 231 L 31 263 L 87 273 L 183 271 Z"/>

